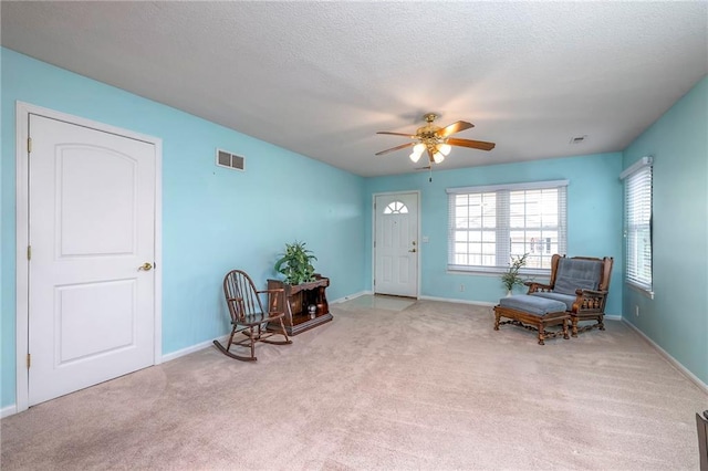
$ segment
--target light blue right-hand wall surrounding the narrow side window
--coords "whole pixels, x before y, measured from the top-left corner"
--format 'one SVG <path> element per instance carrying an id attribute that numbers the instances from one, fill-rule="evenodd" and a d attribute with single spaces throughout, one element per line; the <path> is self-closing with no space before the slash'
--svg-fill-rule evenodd
<path id="1" fill-rule="evenodd" d="M 647 155 L 654 156 L 655 297 L 625 287 L 624 313 L 708 384 L 708 77 L 625 149 L 624 167 Z"/>

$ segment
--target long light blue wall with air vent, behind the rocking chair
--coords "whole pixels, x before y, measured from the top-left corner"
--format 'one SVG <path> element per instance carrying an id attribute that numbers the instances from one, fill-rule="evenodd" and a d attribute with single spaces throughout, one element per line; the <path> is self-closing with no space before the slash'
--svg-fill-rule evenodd
<path id="1" fill-rule="evenodd" d="M 330 300 L 364 290 L 363 178 L 7 49 L 2 54 L 1 406 L 15 398 L 15 101 L 163 139 L 163 352 L 228 332 L 221 280 L 264 282 L 306 241 Z M 215 148 L 247 171 L 215 165 Z"/>

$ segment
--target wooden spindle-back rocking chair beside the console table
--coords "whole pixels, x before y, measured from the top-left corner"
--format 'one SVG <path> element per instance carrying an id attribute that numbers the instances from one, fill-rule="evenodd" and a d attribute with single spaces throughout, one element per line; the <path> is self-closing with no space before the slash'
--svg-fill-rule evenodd
<path id="1" fill-rule="evenodd" d="M 226 304 L 229 307 L 231 316 L 231 335 L 229 343 L 225 347 L 219 341 L 214 341 L 214 345 L 227 356 L 240 359 L 241 362 L 254 362 L 256 342 L 264 342 L 267 344 L 285 345 L 292 344 L 285 332 L 283 324 L 284 313 L 275 310 L 278 295 L 283 290 L 256 290 L 256 285 L 251 278 L 240 270 L 232 270 L 223 278 L 223 294 Z M 268 311 L 263 310 L 261 295 L 266 295 Z M 280 329 L 268 332 L 268 323 L 272 325 L 280 324 Z M 247 338 L 238 339 L 238 333 L 246 335 Z M 283 335 L 284 341 L 271 341 L 272 335 Z M 236 337 L 236 338 L 235 338 Z M 230 352 L 231 346 L 250 347 L 250 356 L 236 355 Z"/>

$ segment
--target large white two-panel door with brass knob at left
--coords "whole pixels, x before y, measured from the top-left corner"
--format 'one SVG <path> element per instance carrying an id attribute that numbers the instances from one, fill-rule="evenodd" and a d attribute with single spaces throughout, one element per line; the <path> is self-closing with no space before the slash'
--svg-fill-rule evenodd
<path id="1" fill-rule="evenodd" d="M 154 364 L 157 155 L 34 114 L 29 135 L 31 406 Z"/>

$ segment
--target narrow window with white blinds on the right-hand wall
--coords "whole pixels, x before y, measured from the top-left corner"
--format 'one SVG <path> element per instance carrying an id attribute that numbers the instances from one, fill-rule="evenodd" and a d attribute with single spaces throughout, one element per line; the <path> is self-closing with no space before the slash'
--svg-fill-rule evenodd
<path id="1" fill-rule="evenodd" d="M 621 175 L 624 180 L 625 281 L 652 292 L 652 157 Z"/>

